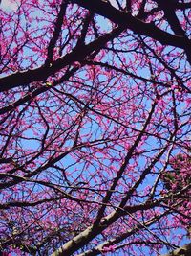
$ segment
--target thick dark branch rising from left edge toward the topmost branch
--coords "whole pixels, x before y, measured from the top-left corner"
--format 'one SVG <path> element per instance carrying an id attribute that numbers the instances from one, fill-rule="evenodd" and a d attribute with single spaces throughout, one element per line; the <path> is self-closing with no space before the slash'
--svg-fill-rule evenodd
<path id="1" fill-rule="evenodd" d="M 58 58 L 50 66 L 43 65 L 35 69 L 29 69 L 23 72 L 16 72 L 0 79 L 0 92 L 8 91 L 11 88 L 15 88 L 21 85 L 24 86 L 32 81 L 46 81 L 49 76 L 52 76 L 67 65 L 73 64 L 74 61 L 81 61 L 84 58 L 88 57 L 95 50 L 100 49 L 108 41 L 119 35 L 123 30 L 124 26 L 118 27 L 112 32 L 100 36 L 95 41 L 87 45 L 75 47 L 73 52 L 65 55 L 62 58 Z"/>

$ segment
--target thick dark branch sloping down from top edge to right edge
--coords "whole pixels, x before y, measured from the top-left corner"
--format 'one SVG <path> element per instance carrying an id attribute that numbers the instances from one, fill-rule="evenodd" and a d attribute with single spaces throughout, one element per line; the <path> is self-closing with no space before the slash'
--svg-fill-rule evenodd
<path id="1" fill-rule="evenodd" d="M 132 16 L 130 12 L 119 11 L 103 0 L 73 0 L 73 2 L 90 10 L 91 12 L 95 12 L 110 19 L 118 25 L 126 26 L 138 35 L 149 36 L 159 41 L 162 45 L 170 45 L 184 49 L 187 54 L 188 61 L 191 63 L 191 54 L 189 51 L 191 48 L 191 41 L 184 36 L 171 35 L 164 32 L 154 24 L 145 23 L 137 17 Z"/>

